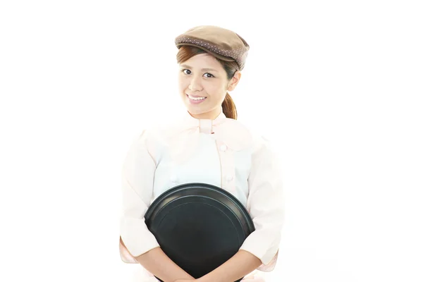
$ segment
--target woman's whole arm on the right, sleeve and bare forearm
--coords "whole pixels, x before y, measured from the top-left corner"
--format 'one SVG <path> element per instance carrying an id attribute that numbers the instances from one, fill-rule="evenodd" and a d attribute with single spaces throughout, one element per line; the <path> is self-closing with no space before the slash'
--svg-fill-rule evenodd
<path id="1" fill-rule="evenodd" d="M 252 152 L 248 190 L 247 210 L 255 231 L 245 239 L 237 254 L 202 276 L 201 282 L 236 281 L 262 264 L 266 269 L 276 264 L 283 225 L 281 171 L 276 155 L 264 138 L 259 138 Z"/>

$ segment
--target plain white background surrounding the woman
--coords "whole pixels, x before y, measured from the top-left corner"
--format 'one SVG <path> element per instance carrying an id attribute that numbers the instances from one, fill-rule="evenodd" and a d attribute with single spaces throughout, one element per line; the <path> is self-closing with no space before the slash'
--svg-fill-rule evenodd
<path id="1" fill-rule="evenodd" d="M 250 44 L 231 94 L 281 156 L 268 281 L 423 281 L 419 1 L 1 1 L 0 281 L 128 281 L 121 166 L 183 111 L 176 36 Z"/>

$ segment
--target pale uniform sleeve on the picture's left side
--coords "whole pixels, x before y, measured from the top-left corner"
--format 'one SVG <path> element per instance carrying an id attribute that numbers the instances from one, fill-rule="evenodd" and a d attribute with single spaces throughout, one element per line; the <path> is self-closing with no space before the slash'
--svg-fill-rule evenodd
<path id="1" fill-rule="evenodd" d="M 155 171 L 156 162 L 147 149 L 147 131 L 144 130 L 123 161 L 119 242 L 123 262 L 135 263 L 134 257 L 159 247 L 144 218 L 152 200 Z"/>

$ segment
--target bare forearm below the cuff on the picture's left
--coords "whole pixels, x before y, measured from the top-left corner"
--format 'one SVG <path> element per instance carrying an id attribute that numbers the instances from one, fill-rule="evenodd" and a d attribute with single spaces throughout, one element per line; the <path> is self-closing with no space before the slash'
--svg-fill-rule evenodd
<path id="1" fill-rule="evenodd" d="M 169 257 L 156 247 L 145 254 L 135 257 L 147 271 L 154 274 L 164 282 L 173 282 L 178 279 L 195 280 L 194 277 L 186 273 L 177 264 L 175 264 Z"/>

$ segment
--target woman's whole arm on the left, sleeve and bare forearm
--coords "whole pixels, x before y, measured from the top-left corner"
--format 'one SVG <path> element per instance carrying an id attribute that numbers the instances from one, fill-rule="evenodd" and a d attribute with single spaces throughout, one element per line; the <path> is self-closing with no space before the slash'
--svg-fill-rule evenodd
<path id="1" fill-rule="evenodd" d="M 192 279 L 161 250 L 154 235 L 145 224 L 145 212 L 152 199 L 156 162 L 150 154 L 147 133 L 135 140 L 123 163 L 121 240 L 136 262 L 164 282 Z M 121 256 L 123 252 L 121 250 Z"/>

